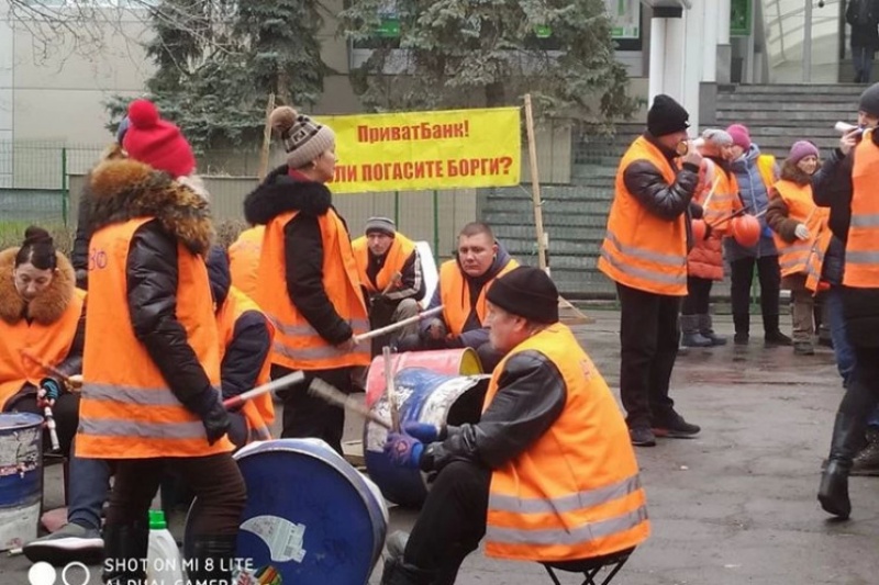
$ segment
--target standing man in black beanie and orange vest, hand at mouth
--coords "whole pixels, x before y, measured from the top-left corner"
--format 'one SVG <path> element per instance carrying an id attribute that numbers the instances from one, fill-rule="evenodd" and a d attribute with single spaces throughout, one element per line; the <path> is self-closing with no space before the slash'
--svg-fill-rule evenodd
<path id="1" fill-rule="evenodd" d="M 690 217 L 701 155 L 687 137 L 689 114 L 659 94 L 647 113 L 647 132 L 623 155 L 598 268 L 616 282 L 621 304 L 620 394 L 632 443 L 656 437 L 686 438 L 687 423 L 668 396 L 678 355 L 678 312 L 687 296 Z M 680 159 L 680 165 L 678 160 Z"/>

